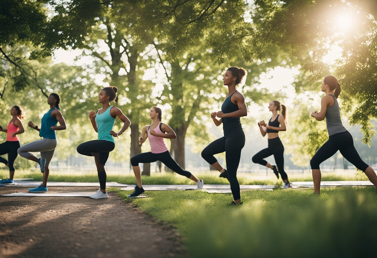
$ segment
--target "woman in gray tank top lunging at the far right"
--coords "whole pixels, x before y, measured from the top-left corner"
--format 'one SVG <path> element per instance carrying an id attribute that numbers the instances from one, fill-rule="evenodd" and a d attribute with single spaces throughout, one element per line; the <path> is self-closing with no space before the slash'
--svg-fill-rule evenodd
<path id="1" fill-rule="evenodd" d="M 343 127 L 342 120 L 340 119 L 340 109 L 337 101 L 340 94 L 338 80 L 332 75 L 326 76 L 322 81 L 321 91 L 326 93 L 326 96 L 321 100 L 321 111 L 314 111 L 311 113 L 311 116 L 318 121 L 326 118 L 329 139 L 317 150 L 316 154 L 310 160 L 314 193 L 319 194 L 320 192 L 321 170 L 319 169 L 319 164 L 333 156 L 338 150 L 346 160 L 362 170 L 377 187 L 377 175 L 372 167 L 360 158 L 353 144 L 352 135 Z"/>

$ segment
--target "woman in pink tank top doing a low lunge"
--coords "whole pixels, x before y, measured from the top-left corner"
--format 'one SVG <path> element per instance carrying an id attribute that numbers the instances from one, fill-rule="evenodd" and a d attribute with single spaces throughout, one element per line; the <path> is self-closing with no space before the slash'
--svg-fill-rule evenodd
<path id="1" fill-rule="evenodd" d="M 180 167 L 173 159 L 172 155 L 170 155 L 170 152 L 165 145 L 164 138 L 176 139 L 177 135 L 167 124 L 161 123 L 161 109 L 152 107 L 149 111 L 149 116 L 153 123 L 149 126 L 143 127 L 141 137 L 139 137 L 139 144 L 143 144 L 148 137 L 150 152 L 136 154 L 131 158 L 132 169 L 133 173 L 135 174 L 137 184 L 133 193 L 127 195 L 127 197 L 134 198 L 139 196 L 141 193 L 144 193 L 143 184 L 141 183 L 139 163 L 151 163 L 158 160 L 179 175 L 183 175 L 195 181 L 198 189 L 202 189 L 203 180 L 199 180 L 189 171 L 183 170 L 182 167 Z"/>

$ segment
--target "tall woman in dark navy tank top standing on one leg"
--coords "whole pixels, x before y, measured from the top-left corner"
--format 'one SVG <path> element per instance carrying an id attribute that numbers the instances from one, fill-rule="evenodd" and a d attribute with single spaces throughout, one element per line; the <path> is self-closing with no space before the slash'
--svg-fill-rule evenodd
<path id="1" fill-rule="evenodd" d="M 222 79 L 224 85 L 228 86 L 228 95 L 222 103 L 221 111 L 213 112 L 211 118 L 216 126 L 223 124 L 224 137 L 210 143 L 202 151 L 202 157 L 217 169 L 220 177 L 228 178 L 230 189 L 233 194 L 231 205 L 242 204 L 237 180 L 237 169 L 241 158 L 241 150 L 245 145 L 245 134 L 242 130 L 240 117 L 247 115 L 245 97 L 236 90 L 236 85 L 242 81 L 246 75 L 243 68 L 229 68 Z M 216 116 L 220 118 L 217 120 Z M 223 169 L 213 155 L 225 151 L 225 161 L 227 169 Z"/>

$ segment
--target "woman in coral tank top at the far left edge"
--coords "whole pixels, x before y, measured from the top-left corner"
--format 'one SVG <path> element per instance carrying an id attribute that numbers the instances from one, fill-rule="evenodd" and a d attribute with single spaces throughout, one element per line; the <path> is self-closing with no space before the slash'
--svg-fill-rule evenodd
<path id="1" fill-rule="evenodd" d="M 0 155 L 8 153 L 8 160 L 0 157 L 0 162 L 9 167 L 9 178 L 0 180 L 0 184 L 13 184 L 14 166 L 13 162 L 17 158 L 17 149 L 21 147 L 20 139 L 17 134 L 25 132 L 22 121 L 24 119 L 24 112 L 20 106 L 12 106 L 11 108 L 12 120 L 9 122 L 6 129 L 0 126 L 1 132 L 6 132 L 5 143 L 0 144 Z"/>

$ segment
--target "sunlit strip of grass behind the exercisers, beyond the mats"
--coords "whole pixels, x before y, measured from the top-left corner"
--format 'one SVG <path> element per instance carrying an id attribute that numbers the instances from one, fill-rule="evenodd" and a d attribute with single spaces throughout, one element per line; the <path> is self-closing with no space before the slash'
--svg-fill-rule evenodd
<path id="1" fill-rule="evenodd" d="M 195 172 L 196 177 L 203 179 L 205 184 L 228 184 L 228 181 L 224 178 L 218 177 L 218 172 Z M 7 170 L 0 170 L 0 178 L 9 178 Z M 15 178 L 33 178 L 34 180 L 41 181 L 43 175 L 34 170 L 17 170 Z M 311 174 L 293 175 L 290 176 L 290 181 L 312 181 Z M 182 177 L 176 173 L 158 173 L 152 174 L 152 176 L 142 176 L 143 184 L 195 184 L 192 180 Z M 322 181 L 340 181 L 340 180 L 368 180 L 365 174 L 361 173 L 347 173 L 345 175 L 339 173 L 322 173 Z M 59 182 L 98 182 L 97 172 L 77 172 L 75 173 L 62 173 L 59 171 L 50 171 L 49 181 Z M 123 184 L 135 184 L 135 177 L 129 173 L 124 175 L 114 175 L 108 173 L 108 182 L 118 182 Z M 277 180 L 275 176 L 257 176 L 248 173 L 239 173 L 238 181 L 240 184 L 262 184 L 262 185 L 282 185 L 281 180 Z"/>

